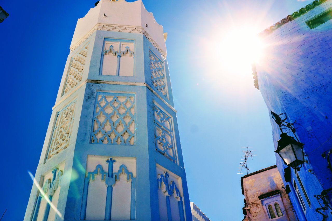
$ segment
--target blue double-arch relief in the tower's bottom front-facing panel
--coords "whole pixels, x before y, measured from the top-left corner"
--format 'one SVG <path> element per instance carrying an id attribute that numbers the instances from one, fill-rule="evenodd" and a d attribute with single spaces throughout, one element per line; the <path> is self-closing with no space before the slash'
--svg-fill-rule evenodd
<path id="1" fill-rule="evenodd" d="M 100 177 L 101 181 L 105 183 L 107 186 L 106 192 L 106 208 L 105 208 L 105 220 L 111 220 L 112 214 L 112 201 L 119 199 L 114 199 L 112 197 L 113 187 L 119 183 L 120 175 L 125 174 L 126 181 L 131 183 L 131 198 L 130 198 L 130 220 L 135 219 L 135 208 L 136 208 L 136 178 L 133 176 L 132 172 L 127 170 L 127 167 L 123 164 L 120 166 L 118 172 L 113 172 L 113 164 L 116 160 L 112 158 L 106 160 L 108 164 L 108 171 L 103 170 L 102 165 L 97 165 L 94 171 L 88 172 L 87 177 L 84 179 L 84 188 L 83 188 L 83 200 L 81 207 L 81 220 L 85 220 L 86 218 L 86 210 L 87 210 L 87 201 L 88 201 L 88 191 L 89 191 L 89 183 L 95 181 L 95 177 Z M 99 176 L 100 175 L 100 176 Z"/>

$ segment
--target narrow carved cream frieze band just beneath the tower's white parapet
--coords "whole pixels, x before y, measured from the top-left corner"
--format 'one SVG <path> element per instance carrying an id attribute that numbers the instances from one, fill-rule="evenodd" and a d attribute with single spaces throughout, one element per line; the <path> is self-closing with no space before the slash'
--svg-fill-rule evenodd
<path id="1" fill-rule="evenodd" d="M 70 48 L 70 53 L 79 47 L 85 40 L 87 40 L 95 31 L 112 31 L 112 32 L 126 32 L 126 33 L 136 33 L 143 34 L 147 40 L 159 51 L 159 53 L 166 57 L 166 52 L 164 52 L 158 44 L 151 38 L 151 36 L 140 26 L 123 26 L 123 25 L 111 25 L 111 24 L 97 24 L 90 32 L 88 32 L 79 42 L 77 42 L 73 47 Z"/>

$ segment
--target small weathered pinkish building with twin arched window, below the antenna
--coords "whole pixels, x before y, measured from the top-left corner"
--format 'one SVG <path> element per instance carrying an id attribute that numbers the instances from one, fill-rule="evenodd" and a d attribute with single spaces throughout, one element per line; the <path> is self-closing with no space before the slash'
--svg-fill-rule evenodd
<path id="1" fill-rule="evenodd" d="M 296 220 L 277 166 L 241 177 L 244 221 Z"/>

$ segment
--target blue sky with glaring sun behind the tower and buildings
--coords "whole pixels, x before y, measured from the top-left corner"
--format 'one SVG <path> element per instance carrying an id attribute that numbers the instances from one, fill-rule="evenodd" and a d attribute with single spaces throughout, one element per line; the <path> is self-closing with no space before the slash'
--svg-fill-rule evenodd
<path id="1" fill-rule="evenodd" d="M 95 1 L 1 1 L 9 13 L 0 24 L 3 220 L 24 218 L 33 184 L 27 171 L 34 173 L 38 165 L 77 19 Z M 242 220 L 240 147 L 256 150 L 258 156 L 248 163 L 251 171 L 275 164 L 275 155 L 269 112 L 254 88 L 248 49 L 239 45 L 248 30 L 257 33 L 310 1 L 143 3 L 168 32 L 190 200 L 211 220 Z M 229 33 L 237 34 L 239 44 L 223 41 Z"/>

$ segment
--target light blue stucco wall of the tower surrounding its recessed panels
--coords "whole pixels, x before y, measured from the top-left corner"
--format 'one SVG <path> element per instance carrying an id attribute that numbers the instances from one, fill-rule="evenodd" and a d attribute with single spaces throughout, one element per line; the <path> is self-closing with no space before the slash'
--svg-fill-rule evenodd
<path id="1" fill-rule="evenodd" d="M 134 76 L 106 76 L 100 74 L 104 39 L 108 38 L 129 39 L 134 42 Z M 167 61 L 164 61 L 165 77 L 168 87 L 168 96 L 165 98 L 159 91 L 153 89 L 149 50 L 159 57 L 161 57 L 161 55 L 142 34 L 97 30 L 83 42 L 81 46 L 86 44 L 89 44 L 89 51 L 86 58 L 88 65 L 86 65 L 83 73 L 82 85 L 77 86 L 78 89 L 73 93 L 62 96 L 70 59 L 81 47 L 75 49 L 68 56 L 56 99 L 56 105 L 53 107 L 51 121 L 41 153 L 40 164 L 36 171 L 36 179 L 39 180 L 41 175 L 46 171 L 56 167 L 61 162 L 65 162 L 64 178 L 61 181 L 61 192 L 57 209 L 63 214 L 64 220 L 80 220 L 87 156 L 132 157 L 136 159 L 136 220 L 159 220 L 156 175 L 157 164 L 181 177 L 185 217 L 186 220 L 192 220 Z M 144 85 L 144 83 L 150 88 Z M 98 91 L 130 92 L 135 94 L 135 145 L 103 145 L 90 142 L 96 94 Z M 77 103 L 70 145 L 65 150 L 46 161 L 45 154 L 47 154 L 49 147 L 55 115 L 57 111 L 61 110 L 64 104 L 75 99 Z M 158 103 L 158 105 L 173 117 L 178 158 L 177 164 L 156 151 L 153 102 Z M 33 186 L 25 220 L 31 220 L 37 193 L 38 189 L 36 186 Z M 55 220 L 62 219 L 57 216 Z"/>

